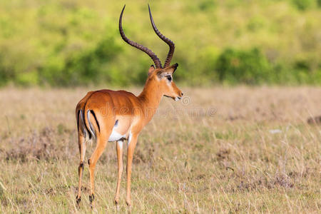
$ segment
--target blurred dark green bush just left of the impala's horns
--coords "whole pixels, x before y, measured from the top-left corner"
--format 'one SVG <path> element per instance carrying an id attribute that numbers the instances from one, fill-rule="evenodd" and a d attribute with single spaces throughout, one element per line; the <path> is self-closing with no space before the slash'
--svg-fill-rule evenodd
<path id="1" fill-rule="evenodd" d="M 94 49 L 67 56 L 49 58 L 49 63 L 41 68 L 39 76 L 42 83 L 53 86 L 83 85 L 103 83 L 111 80 L 111 73 L 106 73 L 110 61 L 121 51 L 114 39 L 99 41 Z"/>

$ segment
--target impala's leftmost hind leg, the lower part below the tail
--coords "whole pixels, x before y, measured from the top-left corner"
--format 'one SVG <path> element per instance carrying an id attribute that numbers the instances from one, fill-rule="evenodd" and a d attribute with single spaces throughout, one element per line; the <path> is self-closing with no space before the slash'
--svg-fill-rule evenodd
<path id="1" fill-rule="evenodd" d="M 78 194 L 76 196 L 77 205 L 79 205 L 79 203 L 81 202 L 81 181 L 83 179 L 83 161 L 85 159 L 85 153 L 86 153 L 86 139 L 84 138 L 82 133 L 78 133 L 78 146 L 79 146 L 80 163 L 78 166 L 79 183 L 78 183 Z"/>

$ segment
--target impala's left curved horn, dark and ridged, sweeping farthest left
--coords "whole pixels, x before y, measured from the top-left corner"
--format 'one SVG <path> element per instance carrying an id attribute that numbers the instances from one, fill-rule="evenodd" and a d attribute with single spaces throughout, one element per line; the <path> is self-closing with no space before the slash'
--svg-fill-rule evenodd
<path id="1" fill-rule="evenodd" d="M 125 6 L 126 5 L 123 6 L 123 10 L 125 9 Z M 123 38 L 123 41 L 126 41 L 126 43 L 130 44 L 131 46 L 135 47 L 136 49 L 144 51 L 146 54 L 148 54 L 148 56 L 150 56 L 153 59 L 155 65 L 156 65 L 156 68 L 163 68 L 161 61 L 156 56 L 156 54 L 153 53 L 153 51 L 151 51 L 150 49 L 142 46 L 141 44 L 136 43 L 135 41 L 131 41 L 130 39 L 128 39 L 125 36 L 125 34 L 123 33 L 123 27 L 122 27 L 122 24 L 121 24 L 122 19 L 123 19 L 123 10 L 121 11 L 121 16 L 119 17 L 119 33 L 121 33 L 121 38 Z"/>

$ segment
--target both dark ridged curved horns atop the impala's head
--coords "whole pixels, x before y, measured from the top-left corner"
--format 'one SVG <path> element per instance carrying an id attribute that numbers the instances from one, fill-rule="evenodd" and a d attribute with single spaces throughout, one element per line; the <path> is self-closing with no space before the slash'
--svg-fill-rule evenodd
<path id="1" fill-rule="evenodd" d="M 121 11 L 121 16 L 119 17 L 119 32 L 121 33 L 121 38 L 123 38 L 123 40 L 126 41 L 126 43 L 130 44 L 131 46 L 135 47 L 136 49 L 144 51 L 146 54 L 148 54 L 148 56 L 150 56 L 153 59 L 153 62 L 155 63 L 156 68 L 163 68 L 161 60 L 157 57 L 157 55 L 153 51 L 146 48 L 145 46 L 142 46 L 141 44 L 136 43 L 135 41 L 131 41 L 123 33 L 122 19 L 123 19 L 123 11 L 125 9 L 125 6 L 123 6 L 123 10 Z M 157 36 L 159 38 L 161 38 L 163 41 L 165 41 L 165 43 L 168 44 L 168 46 L 170 48 L 168 51 L 167 58 L 164 63 L 164 68 L 166 68 L 170 65 L 170 61 L 172 60 L 174 50 L 175 50 L 175 44 L 173 43 L 173 41 L 171 41 L 170 39 L 166 38 L 163 34 L 161 34 L 160 31 L 158 31 L 158 29 L 154 23 L 153 16 L 151 15 L 151 8 L 149 7 L 149 4 L 148 4 L 148 11 L 149 11 L 149 17 L 151 19 L 151 24 L 153 26 L 155 33 L 157 34 Z"/>

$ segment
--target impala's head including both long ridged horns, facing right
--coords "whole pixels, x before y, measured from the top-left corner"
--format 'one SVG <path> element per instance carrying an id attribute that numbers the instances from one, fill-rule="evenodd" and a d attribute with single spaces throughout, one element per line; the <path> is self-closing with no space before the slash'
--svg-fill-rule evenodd
<path id="1" fill-rule="evenodd" d="M 151 59 L 153 60 L 156 66 L 155 67 L 152 65 L 148 69 L 148 79 L 146 81 L 146 84 L 153 84 L 154 88 L 158 88 L 158 93 L 161 93 L 163 94 L 163 96 L 167 96 L 167 97 L 173 98 L 175 101 L 178 101 L 183 96 L 182 91 L 180 91 L 180 89 L 173 82 L 173 73 L 178 67 L 178 63 L 175 63 L 172 66 L 170 66 L 170 61 L 173 58 L 173 54 L 175 50 L 175 44 L 173 43 L 173 41 L 171 41 L 170 39 L 166 38 L 163 34 L 161 34 L 160 31 L 158 31 L 156 24 L 153 21 L 153 16 L 151 15 L 151 8 L 148 5 L 149 17 L 151 19 L 151 24 L 153 26 L 155 33 L 159 38 L 165 41 L 165 43 L 168 44 L 170 48 L 168 51 L 168 55 L 165 60 L 164 66 L 162 66 L 161 60 L 156 56 L 156 54 L 153 53 L 153 51 L 146 48 L 145 46 L 142 46 L 141 44 L 136 43 L 135 41 L 131 41 L 125 36 L 125 34 L 123 33 L 123 27 L 122 27 L 122 18 L 123 18 L 124 9 L 125 9 L 125 6 L 123 6 L 123 10 L 121 11 L 121 16 L 119 18 L 119 32 L 121 33 L 121 37 L 123 38 L 124 41 L 126 41 L 126 43 L 148 54 L 148 56 L 151 57 Z"/>

